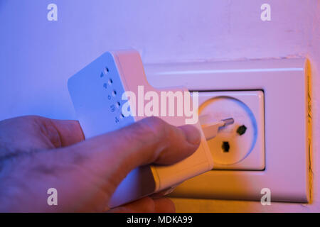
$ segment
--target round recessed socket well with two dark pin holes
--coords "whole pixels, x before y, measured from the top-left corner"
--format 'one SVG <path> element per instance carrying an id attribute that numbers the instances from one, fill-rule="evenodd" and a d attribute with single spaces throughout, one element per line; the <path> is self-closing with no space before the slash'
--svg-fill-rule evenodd
<path id="1" fill-rule="evenodd" d="M 235 123 L 221 128 L 218 135 L 208 140 L 210 152 L 217 165 L 234 165 L 244 160 L 257 140 L 257 123 L 250 107 L 232 96 L 216 96 L 204 101 L 199 114 L 209 115 L 210 121 L 233 118 Z"/>

